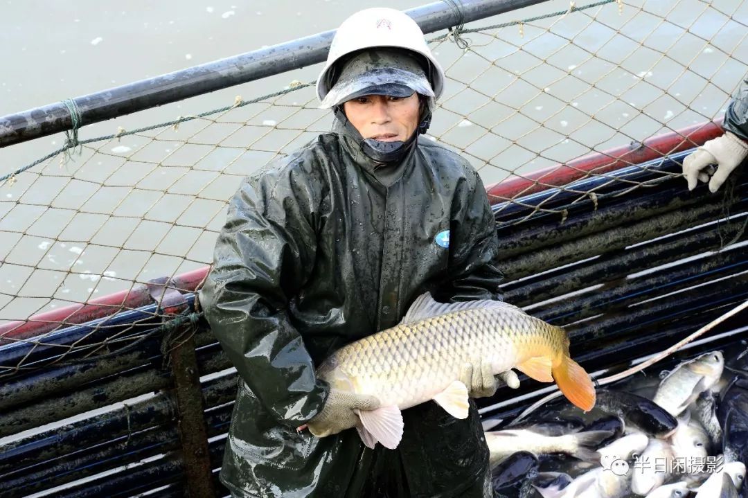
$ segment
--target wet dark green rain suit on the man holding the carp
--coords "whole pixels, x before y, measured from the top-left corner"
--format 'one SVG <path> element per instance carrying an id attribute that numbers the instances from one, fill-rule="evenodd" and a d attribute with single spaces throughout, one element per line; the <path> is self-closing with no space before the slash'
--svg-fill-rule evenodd
<path id="1" fill-rule="evenodd" d="M 435 402 L 405 410 L 394 450 L 368 449 L 355 429 L 295 431 L 328 394 L 315 367 L 396 325 L 418 295 L 499 298 L 494 216 L 476 170 L 423 137 L 399 165 L 377 168 L 360 139 L 336 120 L 230 201 L 200 292 L 239 371 L 221 480 L 250 497 L 490 497 L 472 401 L 465 420 Z"/>

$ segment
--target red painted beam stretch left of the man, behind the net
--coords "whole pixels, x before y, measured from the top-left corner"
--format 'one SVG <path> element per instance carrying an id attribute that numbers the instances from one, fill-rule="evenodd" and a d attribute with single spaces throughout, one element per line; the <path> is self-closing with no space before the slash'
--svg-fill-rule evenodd
<path id="1" fill-rule="evenodd" d="M 188 271 L 172 279 L 172 286 L 182 292 L 193 292 L 208 273 L 208 266 Z M 59 310 L 47 311 L 31 316 L 28 320 L 19 320 L 0 325 L 0 344 L 8 341 L 2 339 L 28 339 L 43 333 L 55 331 L 71 325 L 80 325 L 101 319 L 105 316 L 132 310 L 153 303 L 147 286 L 138 284 L 130 290 L 115 292 L 87 303 L 72 304 Z"/>

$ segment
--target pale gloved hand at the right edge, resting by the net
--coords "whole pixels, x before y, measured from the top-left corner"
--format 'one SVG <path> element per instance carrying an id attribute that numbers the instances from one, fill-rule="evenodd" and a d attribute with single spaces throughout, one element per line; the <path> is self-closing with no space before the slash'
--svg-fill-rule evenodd
<path id="1" fill-rule="evenodd" d="M 688 182 L 688 190 L 696 188 L 696 179 L 699 179 L 709 182 L 709 190 L 716 192 L 746 156 L 748 144 L 730 132 L 707 141 L 683 160 L 683 176 Z M 708 165 L 718 165 L 711 180 L 704 170 Z"/>

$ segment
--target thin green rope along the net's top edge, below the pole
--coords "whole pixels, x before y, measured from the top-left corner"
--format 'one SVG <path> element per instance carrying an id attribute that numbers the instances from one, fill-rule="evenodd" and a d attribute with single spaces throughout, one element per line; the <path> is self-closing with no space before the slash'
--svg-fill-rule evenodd
<path id="1" fill-rule="evenodd" d="M 428 40 L 428 43 L 433 43 L 433 42 L 437 42 L 437 41 L 440 41 L 440 40 L 444 40 L 447 37 L 459 37 L 459 34 L 462 34 L 462 33 L 476 33 L 476 32 L 479 32 L 479 31 L 485 31 L 485 30 L 489 30 L 489 29 L 506 28 L 508 26 L 521 25 L 521 24 L 525 24 L 527 22 L 537 21 L 539 19 L 548 19 L 548 18 L 551 18 L 551 17 L 563 16 L 563 15 L 565 15 L 567 13 L 570 13 L 570 12 L 579 12 L 581 10 L 591 9 L 591 8 L 594 8 L 594 7 L 600 7 L 601 5 L 610 4 L 610 3 L 613 3 L 614 1 L 617 1 L 617 0 L 601 0 L 601 1 L 597 1 L 597 2 L 592 3 L 592 4 L 583 5 L 582 7 L 571 7 L 570 10 L 559 10 L 558 12 L 548 13 L 548 14 L 545 14 L 544 16 L 530 17 L 528 19 L 524 19 L 524 20 L 521 20 L 521 21 L 504 22 L 503 24 L 497 24 L 497 25 L 491 25 L 491 26 L 484 26 L 482 28 L 458 29 L 458 30 L 455 30 L 454 32 L 450 31 L 447 34 L 442 34 L 441 36 L 432 38 L 431 40 Z M 454 4 L 454 2 L 450 3 L 450 7 L 453 7 L 453 8 L 456 7 L 456 5 Z M 460 38 L 460 39 L 464 40 L 462 38 Z M 220 112 L 225 112 L 225 111 L 228 111 L 231 108 L 235 108 L 235 107 L 238 108 L 238 107 L 242 107 L 242 106 L 248 105 L 248 104 L 255 104 L 255 103 L 261 102 L 261 101 L 263 101 L 265 99 L 271 99 L 272 97 L 286 95 L 287 93 L 295 92 L 297 90 L 301 90 L 303 88 L 310 87 L 310 86 L 312 86 L 314 84 L 316 84 L 316 82 L 298 84 L 298 85 L 295 85 L 293 87 L 289 87 L 289 88 L 286 88 L 284 90 L 281 90 L 281 91 L 278 91 L 278 92 L 275 92 L 275 93 L 269 93 L 267 95 L 257 97 L 257 99 L 243 101 L 239 105 L 236 105 L 236 104 L 235 105 L 227 105 L 226 107 L 214 109 L 212 111 L 206 111 L 206 112 L 203 112 L 201 114 L 197 114 L 196 116 L 180 117 L 177 120 L 168 121 L 167 123 L 159 123 L 159 124 L 156 124 L 156 125 L 153 125 L 153 126 L 146 126 L 145 128 L 138 128 L 138 129 L 135 129 L 135 130 L 132 130 L 132 131 L 129 131 L 129 132 L 122 132 L 122 133 L 116 133 L 116 134 L 112 134 L 112 135 L 103 135 L 101 137 L 96 137 L 96 138 L 89 138 L 88 140 L 84 140 L 84 141 L 78 141 L 78 129 L 77 129 L 76 123 L 78 125 L 80 124 L 80 114 L 78 113 L 78 108 L 76 106 L 76 102 L 74 102 L 72 99 L 64 100 L 63 103 L 66 105 L 66 107 L 70 111 L 70 117 L 73 120 L 73 134 L 70 135 L 70 136 L 68 136 L 68 139 L 65 141 L 65 144 L 63 145 L 63 147 L 59 148 L 58 150 L 55 150 L 55 152 L 47 154 L 46 156 L 44 156 L 41 159 L 37 159 L 36 161 L 32 162 L 29 165 L 26 165 L 24 167 L 19 167 L 17 170 L 13 171 L 13 173 L 8 173 L 6 175 L 0 176 L 0 183 L 4 182 L 5 180 L 7 180 L 9 178 L 11 178 L 12 176 L 16 176 L 19 173 L 23 173 L 24 171 L 29 170 L 32 167 L 34 167 L 36 165 L 39 165 L 40 163 L 45 162 L 48 159 L 52 159 L 53 157 L 57 156 L 60 153 L 67 153 L 67 151 L 70 150 L 70 149 L 72 149 L 73 147 L 77 147 L 77 146 L 82 147 L 84 144 L 90 144 L 91 142 L 111 140 L 112 138 L 119 138 L 119 137 L 123 137 L 123 136 L 126 136 L 126 135 L 135 135 L 135 133 L 147 132 L 147 131 L 150 131 L 150 130 L 153 130 L 153 129 L 165 128 L 167 126 L 174 126 L 174 125 L 176 125 L 178 123 L 185 123 L 186 121 L 195 120 L 195 119 L 198 119 L 200 117 L 206 117 L 206 116 L 210 116 L 212 114 L 218 114 Z M 72 105 L 69 104 L 68 102 L 72 102 Z"/>

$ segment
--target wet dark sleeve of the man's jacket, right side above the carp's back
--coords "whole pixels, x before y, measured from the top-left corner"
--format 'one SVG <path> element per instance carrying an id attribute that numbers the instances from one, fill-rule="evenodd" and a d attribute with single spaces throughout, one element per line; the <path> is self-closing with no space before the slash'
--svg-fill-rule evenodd
<path id="1" fill-rule="evenodd" d="M 503 274 L 495 263 L 498 239 L 494 213 L 479 174 L 472 167 L 466 167 L 466 173 L 454 197 L 448 277 L 438 297 L 453 302 L 500 299 Z"/>

